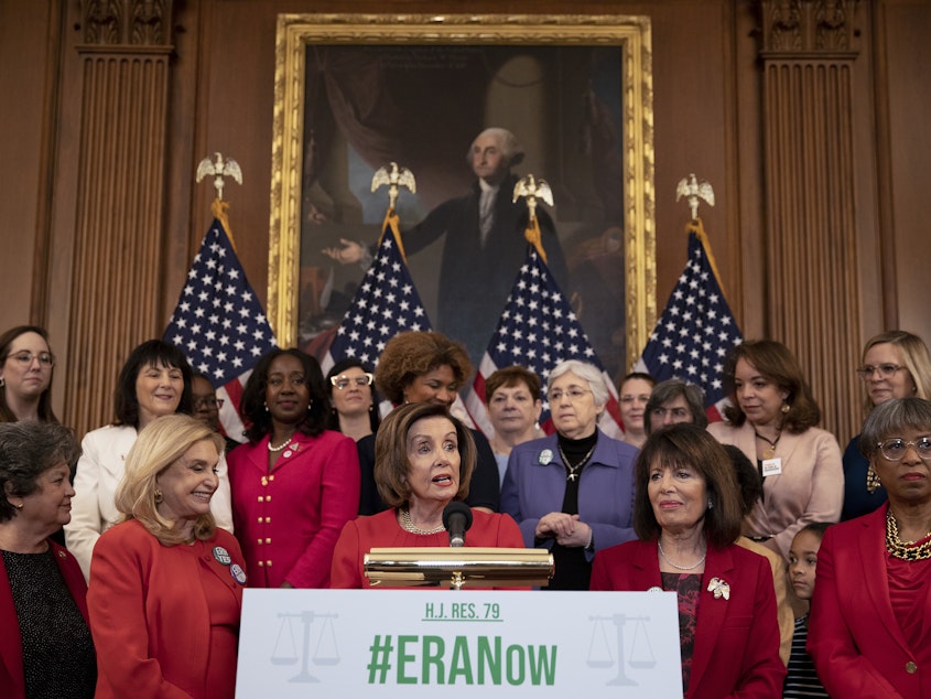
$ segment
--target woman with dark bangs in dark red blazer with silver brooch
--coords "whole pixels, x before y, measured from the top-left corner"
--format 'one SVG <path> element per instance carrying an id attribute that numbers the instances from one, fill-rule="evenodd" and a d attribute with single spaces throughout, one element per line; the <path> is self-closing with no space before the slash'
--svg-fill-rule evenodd
<path id="1" fill-rule="evenodd" d="M 639 541 L 599 551 L 592 590 L 676 593 L 686 699 L 778 698 L 786 666 L 769 563 L 734 544 L 730 459 L 694 424 L 650 435 L 637 459 Z"/>

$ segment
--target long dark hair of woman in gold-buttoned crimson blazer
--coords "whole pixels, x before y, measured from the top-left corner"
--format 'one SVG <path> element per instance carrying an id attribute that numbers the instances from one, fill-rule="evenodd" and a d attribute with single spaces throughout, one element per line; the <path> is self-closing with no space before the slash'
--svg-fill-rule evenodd
<path id="1" fill-rule="evenodd" d="M 297 426 L 304 434 L 316 437 L 326 429 L 329 416 L 329 392 L 323 384 L 323 372 L 311 355 L 296 347 L 280 350 L 275 347 L 261 356 L 246 381 L 242 398 L 239 401 L 239 415 L 249 427 L 246 437 L 250 442 L 258 442 L 271 432 L 271 413 L 266 409 L 266 388 L 268 387 L 271 363 L 282 355 L 296 357 L 304 370 L 311 405 L 306 417 Z"/>

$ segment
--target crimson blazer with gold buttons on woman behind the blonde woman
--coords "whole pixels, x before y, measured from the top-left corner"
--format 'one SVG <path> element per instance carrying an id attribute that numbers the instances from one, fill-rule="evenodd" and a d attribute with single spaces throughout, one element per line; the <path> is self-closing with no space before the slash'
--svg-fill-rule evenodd
<path id="1" fill-rule="evenodd" d="M 226 456 L 250 588 L 328 588 L 333 549 L 359 509 L 359 453 L 339 432 L 295 432 L 269 473 L 268 437 Z"/>

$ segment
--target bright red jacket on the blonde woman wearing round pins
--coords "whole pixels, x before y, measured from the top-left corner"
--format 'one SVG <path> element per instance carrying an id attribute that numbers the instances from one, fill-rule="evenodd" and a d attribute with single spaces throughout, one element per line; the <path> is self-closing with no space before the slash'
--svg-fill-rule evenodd
<path id="1" fill-rule="evenodd" d="M 226 549 L 230 564 L 214 547 Z M 239 634 L 243 587 L 232 564 L 245 561 L 226 529 L 192 546 L 164 546 L 134 519 L 107 529 L 94 546 L 87 591 L 96 699 L 231 699 L 236 643 L 228 634 Z M 212 652 L 214 634 L 225 652 Z"/>

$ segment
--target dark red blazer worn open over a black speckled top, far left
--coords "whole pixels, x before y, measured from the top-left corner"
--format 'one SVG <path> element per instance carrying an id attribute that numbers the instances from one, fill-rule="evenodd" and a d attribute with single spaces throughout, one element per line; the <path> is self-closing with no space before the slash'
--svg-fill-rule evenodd
<path id="1" fill-rule="evenodd" d="M 84 582 L 84 573 L 80 572 L 77 559 L 64 548 L 50 540 L 52 551 L 55 553 L 55 562 L 58 563 L 58 571 L 65 580 L 65 584 L 77 603 L 84 621 L 87 621 L 87 583 Z M 41 580 L 36 584 L 41 584 Z M 10 579 L 7 577 L 7 568 L 0 557 L 0 688 L 7 699 L 25 699 L 25 678 L 23 677 L 23 643 L 20 636 L 20 622 L 17 619 L 17 609 L 13 605 L 13 591 L 10 589 Z"/>

